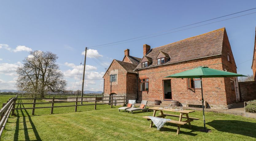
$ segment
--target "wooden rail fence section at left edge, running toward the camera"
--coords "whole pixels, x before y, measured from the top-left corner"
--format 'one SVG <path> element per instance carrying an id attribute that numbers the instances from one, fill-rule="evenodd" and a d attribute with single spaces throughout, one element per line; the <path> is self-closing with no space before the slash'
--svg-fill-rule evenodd
<path id="1" fill-rule="evenodd" d="M 2 132 L 5 128 L 6 122 L 8 120 L 8 117 L 10 115 L 11 109 L 13 107 L 14 99 L 16 97 L 10 98 L 6 103 L 3 103 L 3 107 L 0 110 L 0 139 L 1 139 Z"/>

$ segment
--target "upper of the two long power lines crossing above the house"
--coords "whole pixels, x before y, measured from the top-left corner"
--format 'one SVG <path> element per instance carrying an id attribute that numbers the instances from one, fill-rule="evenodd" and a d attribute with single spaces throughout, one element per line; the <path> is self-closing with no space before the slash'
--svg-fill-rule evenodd
<path id="1" fill-rule="evenodd" d="M 193 23 L 193 24 L 190 24 L 190 25 L 196 25 L 196 24 L 203 23 L 203 22 L 206 22 L 206 21 L 211 21 L 211 20 L 219 19 L 219 18 L 222 18 L 222 17 L 227 17 L 227 16 L 230 16 L 230 15 L 234 15 L 234 14 L 237 14 L 237 13 L 242 13 L 242 12 L 246 12 L 246 11 L 250 11 L 250 10 L 254 10 L 254 9 L 256 9 L 256 8 L 252 8 L 252 9 L 248 9 L 248 10 L 244 10 L 244 11 L 240 11 L 240 12 L 228 14 L 228 15 L 221 16 L 221 17 L 212 18 L 212 19 L 205 20 L 205 21 L 196 22 L 196 23 Z M 126 39 L 126 40 L 121 40 L 121 41 L 117 41 L 117 42 L 112 42 L 112 43 L 107 43 L 107 44 L 114 44 L 114 43 L 119 43 L 119 42 L 123 42 L 123 41 L 127 41 L 127 40 L 133 40 L 133 39 L 137 39 L 137 38 L 142 38 L 142 37 L 145 37 L 145 36 L 150 36 L 150 35 L 154 35 L 154 34 L 158 34 L 158 33 L 162 33 L 162 32 L 167 32 L 167 31 L 171 31 L 171 30 L 175 30 L 175 29 L 180 29 L 180 28 L 187 27 L 187 26 L 190 26 L 190 25 L 184 25 L 184 26 L 177 27 L 177 28 L 174 28 L 174 29 L 169 29 L 169 30 L 164 30 L 164 31 L 160 31 L 160 32 L 155 32 L 155 33 L 152 33 L 152 34 L 149 34 L 149 35 L 134 37 L 134 38 L 130 38 L 130 39 Z M 144 38 L 144 39 L 145 39 L 145 38 Z M 101 45 L 91 46 L 91 47 L 89 47 L 89 48 L 98 47 L 98 46 L 103 46 L 103 45 L 107 45 L 107 44 L 101 44 Z"/>

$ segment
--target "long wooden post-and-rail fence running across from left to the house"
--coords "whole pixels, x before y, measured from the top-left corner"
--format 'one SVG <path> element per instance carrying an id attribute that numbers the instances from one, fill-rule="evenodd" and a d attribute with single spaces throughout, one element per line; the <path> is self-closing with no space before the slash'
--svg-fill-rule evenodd
<path id="1" fill-rule="evenodd" d="M 113 98 L 117 98 L 117 97 L 122 97 L 123 99 L 113 99 Z M 95 98 L 95 100 L 83 100 L 86 98 Z M 53 114 L 53 109 L 54 108 L 59 108 L 59 107 L 75 107 L 75 112 L 77 111 L 77 106 L 87 106 L 87 105 L 94 105 L 94 109 L 96 110 L 97 105 L 103 105 L 103 104 L 110 104 L 110 107 L 113 107 L 113 104 L 118 104 L 118 103 L 123 103 L 125 105 L 126 103 L 126 96 L 111 96 L 111 97 L 102 97 L 102 100 L 96 100 L 96 97 L 60 97 L 60 98 L 13 98 L 13 107 L 12 107 L 12 113 L 11 115 L 14 115 L 14 110 L 22 110 L 22 109 L 32 109 L 32 115 L 34 115 L 35 113 L 35 109 L 42 109 L 42 108 L 51 108 L 51 114 Z M 108 98 L 106 100 L 104 100 L 104 98 Z M 67 100 L 67 99 L 76 99 L 76 101 L 55 101 L 55 99 L 58 100 Z M 81 99 L 80 101 L 78 101 L 78 99 Z M 29 103 L 16 103 L 17 100 L 33 100 L 33 102 L 29 102 Z M 51 102 L 36 102 L 37 100 L 52 100 Z M 107 103 L 99 103 L 99 102 L 103 102 L 103 101 L 108 101 Z M 115 102 L 113 102 L 115 101 Z M 122 102 L 117 102 L 117 101 L 122 101 Z M 75 105 L 63 105 L 63 106 L 54 106 L 55 103 L 74 103 Z M 93 104 L 83 104 L 83 105 L 78 105 L 78 102 L 94 102 Z M 32 107 L 28 107 L 28 108 L 15 108 L 15 105 L 26 105 L 26 104 L 31 104 L 33 105 Z M 51 106 L 45 106 L 45 107 L 36 107 L 37 104 L 51 104 Z"/>

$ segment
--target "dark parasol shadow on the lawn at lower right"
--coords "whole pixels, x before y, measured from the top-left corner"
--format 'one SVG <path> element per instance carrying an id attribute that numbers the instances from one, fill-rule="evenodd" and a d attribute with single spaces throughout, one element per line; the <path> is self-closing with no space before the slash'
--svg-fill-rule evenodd
<path id="1" fill-rule="evenodd" d="M 239 120 L 213 120 L 206 124 L 218 131 L 256 138 L 256 123 Z"/>

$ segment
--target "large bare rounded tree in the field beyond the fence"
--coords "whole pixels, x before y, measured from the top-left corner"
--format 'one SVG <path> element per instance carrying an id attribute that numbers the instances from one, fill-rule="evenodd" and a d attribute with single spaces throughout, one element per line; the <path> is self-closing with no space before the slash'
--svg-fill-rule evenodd
<path id="1" fill-rule="evenodd" d="M 23 60 L 23 65 L 16 70 L 16 87 L 29 93 L 31 97 L 44 97 L 48 91 L 64 91 L 67 81 L 56 64 L 57 59 L 57 55 L 52 52 L 31 51 Z"/>

